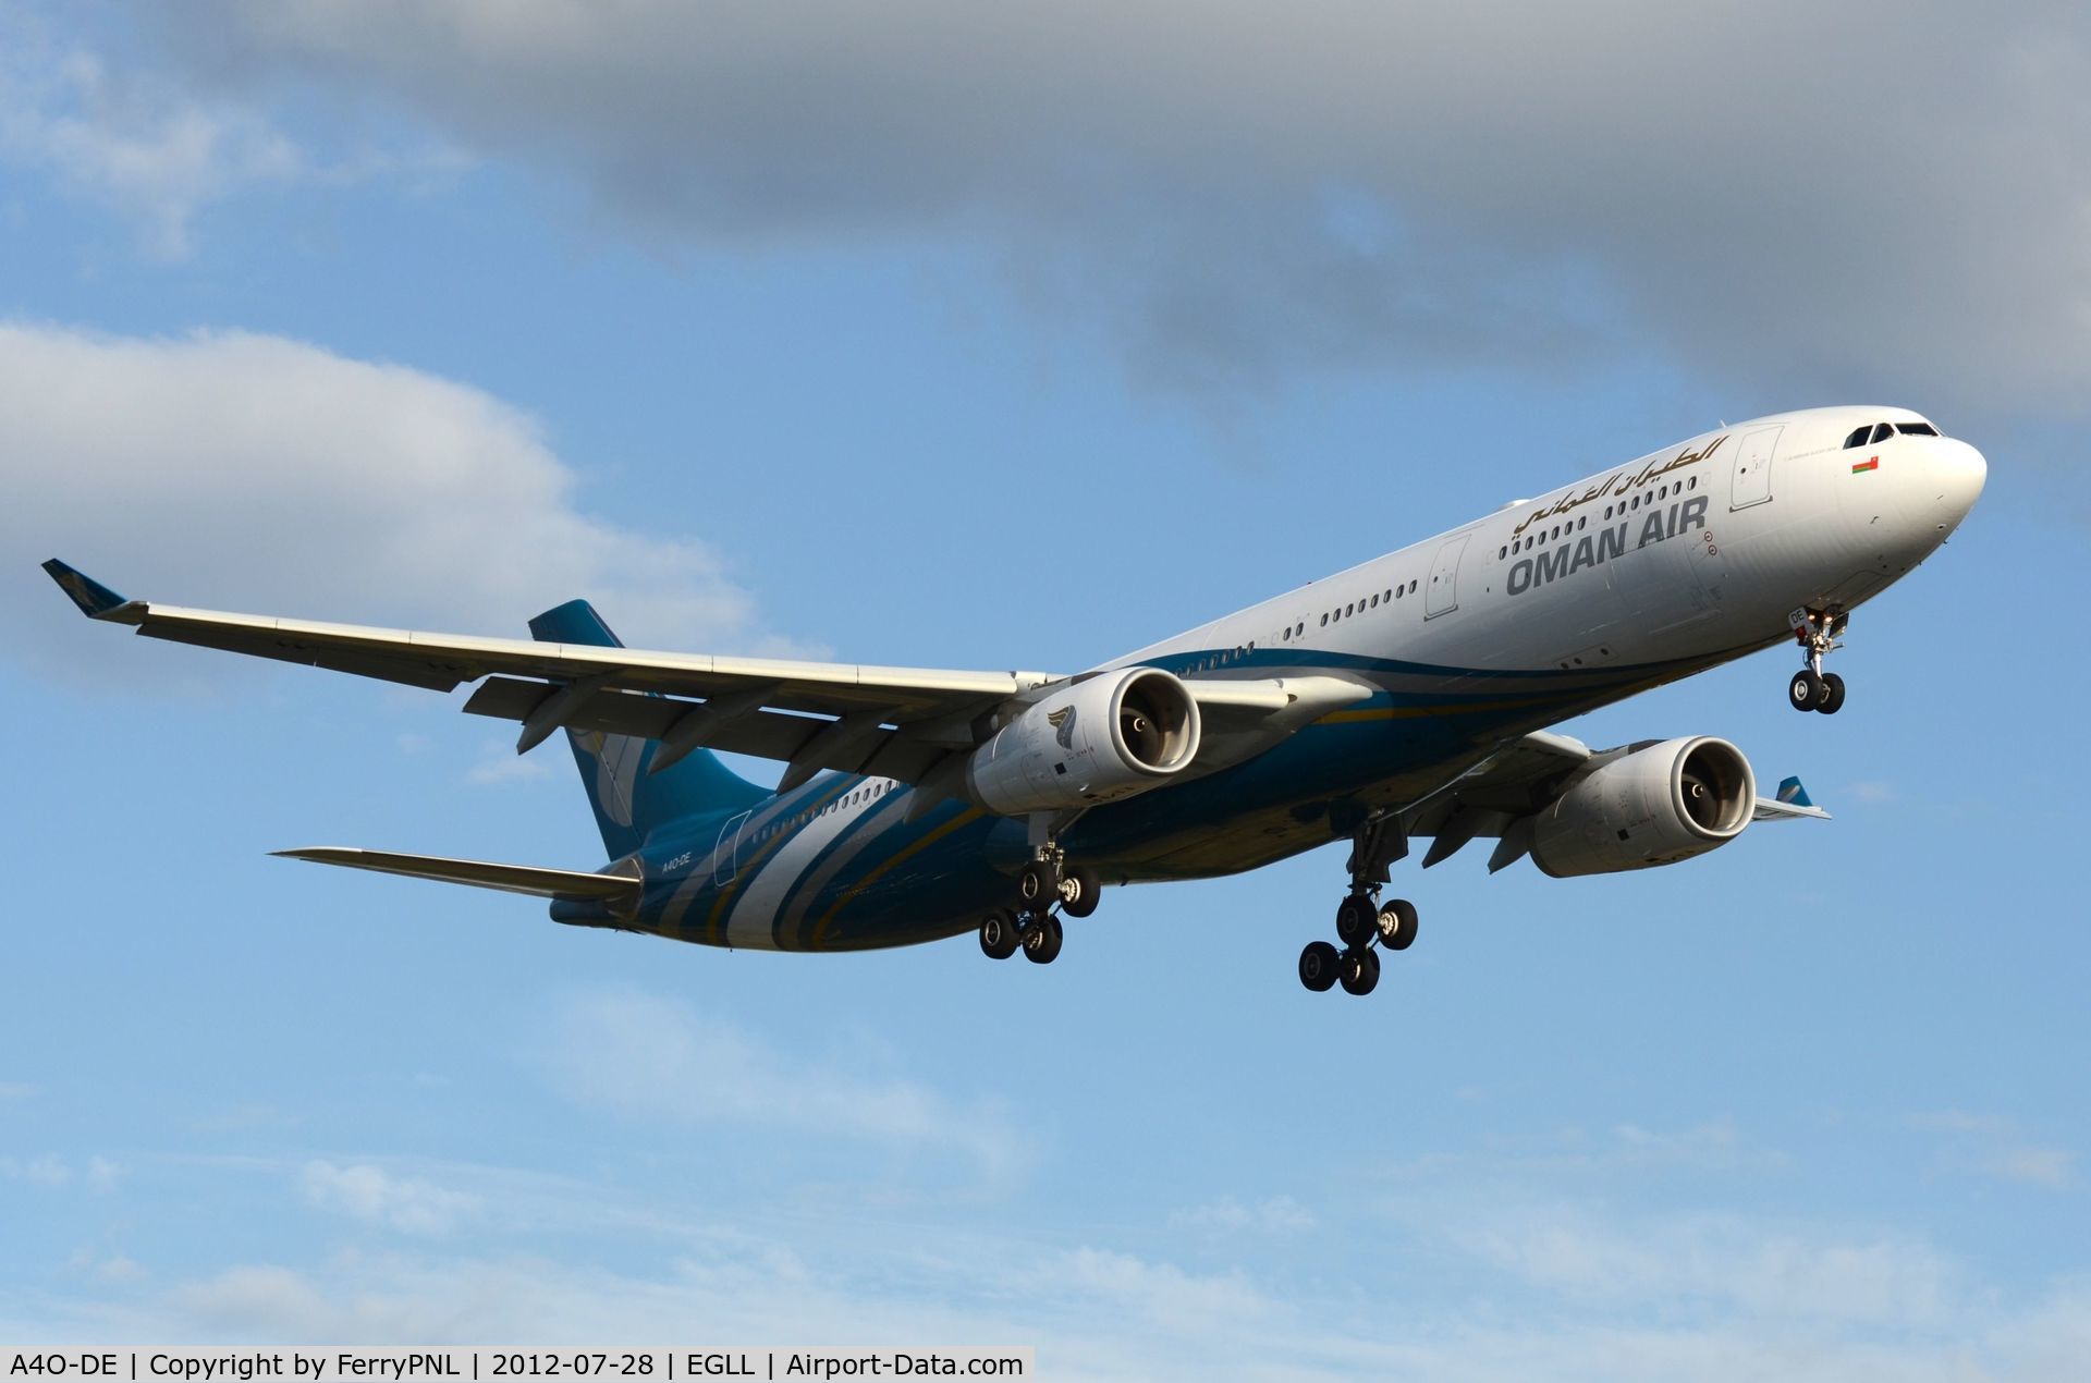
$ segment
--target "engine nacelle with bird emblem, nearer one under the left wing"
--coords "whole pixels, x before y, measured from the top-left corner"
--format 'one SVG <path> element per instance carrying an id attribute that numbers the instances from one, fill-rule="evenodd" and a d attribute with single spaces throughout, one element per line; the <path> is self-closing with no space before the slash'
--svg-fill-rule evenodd
<path id="1" fill-rule="evenodd" d="M 1041 699 L 972 751 L 966 787 L 1002 816 L 1161 787 L 1198 755 L 1198 701 L 1173 674 L 1121 667 Z"/>

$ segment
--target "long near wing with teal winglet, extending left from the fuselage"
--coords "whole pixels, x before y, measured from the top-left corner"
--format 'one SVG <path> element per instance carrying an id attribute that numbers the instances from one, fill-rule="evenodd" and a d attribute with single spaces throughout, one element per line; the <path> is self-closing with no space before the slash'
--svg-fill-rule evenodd
<path id="1" fill-rule="evenodd" d="M 692 749 L 726 749 L 786 764 L 780 791 L 824 768 L 924 783 L 979 743 L 979 722 L 1012 699 L 1064 678 L 1048 672 L 866 667 L 529 638 L 418 634 L 351 624 L 236 615 L 128 600 L 61 561 L 44 571 L 90 619 L 148 638 L 307 663 L 431 690 L 481 682 L 464 709 L 516 720 L 527 751 L 554 730 L 602 730 L 661 741 L 652 768 Z M 1215 755 L 1236 762 L 1368 688 L 1326 678 L 1290 682 L 1190 680 L 1213 718 Z M 1215 757 L 1202 768 L 1221 766 Z"/>

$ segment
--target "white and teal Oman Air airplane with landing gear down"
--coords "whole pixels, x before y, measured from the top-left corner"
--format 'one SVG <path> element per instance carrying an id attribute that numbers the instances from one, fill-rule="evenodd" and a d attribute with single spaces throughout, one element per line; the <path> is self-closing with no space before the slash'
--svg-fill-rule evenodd
<path id="1" fill-rule="evenodd" d="M 1903 408 L 1811 408 L 1700 433 L 1073 676 L 625 649 L 585 600 L 531 640 L 128 600 L 44 569 L 92 619 L 408 686 L 567 734 L 611 862 L 537 868 L 351 847 L 278 852 L 550 900 L 556 923 L 705 946 L 868 950 L 976 933 L 1050 962 L 1104 885 L 1207 879 L 1349 839 L 1336 944 L 1299 979 L 1370 994 L 1418 912 L 1380 902 L 1493 839 L 1564 879 L 1692 860 L 1773 797 L 1710 734 L 1591 751 L 1554 726 L 1790 642 L 1798 711 L 1851 611 L 1930 557 L 1986 462 Z M 715 751 L 784 764 L 776 789 Z M 1340 946 L 1338 946 L 1340 944 Z"/>

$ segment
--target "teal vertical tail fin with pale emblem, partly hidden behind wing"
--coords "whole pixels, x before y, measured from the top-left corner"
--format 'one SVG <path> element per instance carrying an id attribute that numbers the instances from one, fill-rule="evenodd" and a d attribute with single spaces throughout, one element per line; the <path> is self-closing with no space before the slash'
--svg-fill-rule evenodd
<path id="1" fill-rule="evenodd" d="M 531 638 L 556 644 L 623 649 L 588 600 L 567 600 L 529 621 Z M 646 766 L 661 751 L 650 739 L 567 730 L 573 762 L 581 768 L 588 806 L 596 810 L 602 847 L 611 858 L 638 849 L 659 826 L 707 812 L 738 812 L 769 795 L 709 749 L 698 749 L 657 774 Z"/>

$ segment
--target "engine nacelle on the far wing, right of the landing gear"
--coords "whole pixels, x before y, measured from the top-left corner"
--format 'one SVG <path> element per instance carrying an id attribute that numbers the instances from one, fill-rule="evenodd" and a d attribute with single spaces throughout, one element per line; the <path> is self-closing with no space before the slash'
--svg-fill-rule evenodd
<path id="1" fill-rule="evenodd" d="M 1756 774 L 1725 739 L 1667 739 L 1625 753 L 1533 818 L 1533 864 L 1556 879 L 1677 864 L 1750 824 Z"/>

